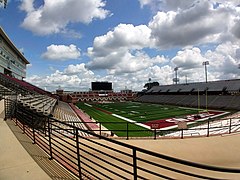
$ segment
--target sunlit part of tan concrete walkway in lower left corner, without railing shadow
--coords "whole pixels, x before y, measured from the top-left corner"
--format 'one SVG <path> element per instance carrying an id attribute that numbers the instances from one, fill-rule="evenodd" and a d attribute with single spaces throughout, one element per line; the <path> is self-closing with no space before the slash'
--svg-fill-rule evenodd
<path id="1" fill-rule="evenodd" d="M 0 179 L 51 179 L 27 153 L 3 119 L 0 119 L 0 144 Z"/>

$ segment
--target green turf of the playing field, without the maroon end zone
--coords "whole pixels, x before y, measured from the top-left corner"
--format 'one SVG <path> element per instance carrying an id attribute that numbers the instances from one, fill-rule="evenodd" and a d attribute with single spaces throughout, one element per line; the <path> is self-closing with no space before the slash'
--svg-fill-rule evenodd
<path id="1" fill-rule="evenodd" d="M 77 106 L 84 110 L 88 115 L 103 123 L 103 125 L 113 131 L 118 136 L 152 136 L 152 130 L 127 123 L 126 120 L 117 118 L 112 114 L 117 114 L 124 118 L 136 122 L 147 122 L 151 120 L 166 119 L 170 117 L 181 117 L 188 114 L 194 114 L 195 109 L 183 109 L 174 106 L 163 106 L 157 104 L 137 103 L 137 102 L 115 102 L 115 103 L 78 103 Z M 90 107 L 91 105 L 92 107 Z"/>

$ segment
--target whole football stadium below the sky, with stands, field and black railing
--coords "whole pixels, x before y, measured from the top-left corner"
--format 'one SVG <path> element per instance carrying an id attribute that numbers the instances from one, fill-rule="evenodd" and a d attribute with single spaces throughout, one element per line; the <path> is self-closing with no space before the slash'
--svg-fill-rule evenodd
<path id="1" fill-rule="evenodd" d="M 29 62 L 0 33 L 2 118 L 70 173 L 52 179 L 239 179 L 239 79 L 53 94 L 23 80 Z"/>

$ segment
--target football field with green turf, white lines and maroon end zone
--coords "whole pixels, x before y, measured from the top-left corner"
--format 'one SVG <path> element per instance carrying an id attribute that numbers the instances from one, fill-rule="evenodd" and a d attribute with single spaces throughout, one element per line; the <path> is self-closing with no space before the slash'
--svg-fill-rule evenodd
<path id="1" fill-rule="evenodd" d="M 158 129 L 175 128 L 179 121 L 194 122 L 220 114 L 198 109 L 139 102 L 79 103 L 78 107 L 118 136 L 152 136 L 152 124 Z M 202 111 L 202 110 L 201 110 Z"/>

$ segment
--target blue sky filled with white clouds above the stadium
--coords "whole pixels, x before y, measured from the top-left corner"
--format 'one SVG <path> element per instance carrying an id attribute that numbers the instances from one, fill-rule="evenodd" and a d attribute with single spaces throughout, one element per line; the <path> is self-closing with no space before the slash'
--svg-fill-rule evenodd
<path id="1" fill-rule="evenodd" d="M 141 91 L 240 78 L 240 0 L 9 0 L 0 25 L 30 61 L 26 80 L 88 91 Z"/>

